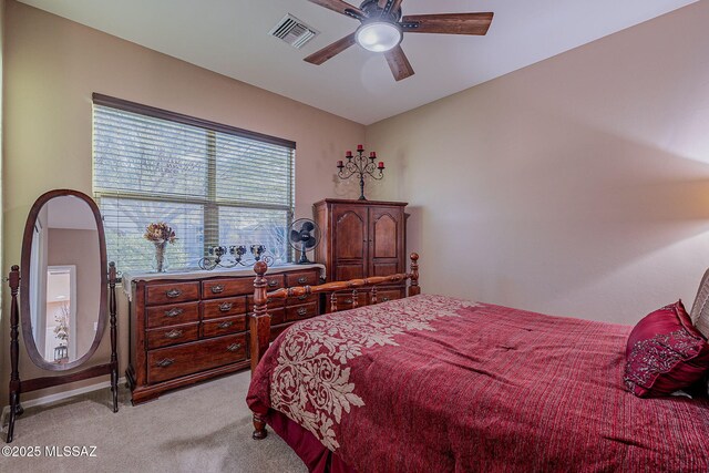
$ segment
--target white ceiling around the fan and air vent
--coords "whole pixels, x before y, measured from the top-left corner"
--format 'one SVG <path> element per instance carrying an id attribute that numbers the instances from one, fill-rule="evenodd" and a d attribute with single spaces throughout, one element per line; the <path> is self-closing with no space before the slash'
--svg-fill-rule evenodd
<path id="1" fill-rule="evenodd" d="M 404 14 L 493 11 L 486 37 L 405 34 L 415 75 L 394 82 L 381 54 L 352 47 L 302 58 L 357 20 L 307 0 L 21 0 L 79 23 L 370 124 L 551 58 L 697 0 L 405 0 Z M 292 13 L 321 32 L 302 50 L 268 35 Z"/>

